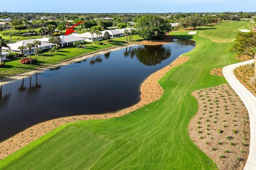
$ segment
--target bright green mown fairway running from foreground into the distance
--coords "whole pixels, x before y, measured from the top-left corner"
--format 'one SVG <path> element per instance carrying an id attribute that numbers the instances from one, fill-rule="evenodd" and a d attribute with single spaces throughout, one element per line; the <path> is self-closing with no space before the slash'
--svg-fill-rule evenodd
<path id="1" fill-rule="evenodd" d="M 0 169 L 217 169 L 188 135 L 188 124 L 198 109 L 191 93 L 226 83 L 224 77 L 210 75 L 210 70 L 239 61 L 228 52 L 234 42 L 216 43 L 199 35 L 234 39 L 237 30 L 247 24 L 205 26 L 195 35 L 171 32 L 197 45 L 184 54 L 190 57 L 186 63 L 160 79 L 164 94 L 158 101 L 123 117 L 56 128 L 1 160 Z"/>

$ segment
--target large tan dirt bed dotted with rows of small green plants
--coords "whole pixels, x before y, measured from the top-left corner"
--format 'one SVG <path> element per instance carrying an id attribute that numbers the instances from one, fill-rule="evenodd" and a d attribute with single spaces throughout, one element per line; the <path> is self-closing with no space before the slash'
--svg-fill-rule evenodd
<path id="1" fill-rule="evenodd" d="M 248 111 L 228 84 L 192 93 L 198 113 L 190 121 L 188 134 L 219 169 L 242 170 L 250 144 Z"/>

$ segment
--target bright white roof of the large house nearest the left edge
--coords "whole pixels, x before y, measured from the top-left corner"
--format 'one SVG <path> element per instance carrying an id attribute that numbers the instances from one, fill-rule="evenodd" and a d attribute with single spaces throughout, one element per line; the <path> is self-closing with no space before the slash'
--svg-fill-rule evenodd
<path id="1" fill-rule="evenodd" d="M 8 46 L 10 47 L 10 50 L 15 50 L 15 51 L 20 51 L 18 49 L 18 47 L 20 46 L 25 46 L 28 44 L 28 43 L 33 43 L 35 40 L 39 40 L 40 39 L 34 39 L 34 40 L 24 40 L 24 41 L 19 41 L 19 42 L 16 42 L 16 43 L 9 43 Z M 55 45 L 53 43 L 49 43 L 49 42 L 41 42 L 41 45 L 38 45 L 38 48 L 40 47 L 46 47 L 46 46 L 50 46 L 50 45 Z M 35 49 L 36 47 L 33 47 L 32 49 Z M 2 47 L 2 49 L 6 49 L 6 50 L 9 50 L 8 48 L 6 47 Z"/>

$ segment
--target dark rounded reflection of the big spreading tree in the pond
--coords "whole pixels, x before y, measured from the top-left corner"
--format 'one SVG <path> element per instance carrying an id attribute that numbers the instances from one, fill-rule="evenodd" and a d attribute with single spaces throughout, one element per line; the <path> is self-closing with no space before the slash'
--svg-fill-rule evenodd
<path id="1" fill-rule="evenodd" d="M 171 56 L 171 50 L 162 45 L 145 45 L 138 46 L 136 49 L 129 51 L 130 55 L 136 55 L 138 61 L 147 66 L 161 63 Z"/>

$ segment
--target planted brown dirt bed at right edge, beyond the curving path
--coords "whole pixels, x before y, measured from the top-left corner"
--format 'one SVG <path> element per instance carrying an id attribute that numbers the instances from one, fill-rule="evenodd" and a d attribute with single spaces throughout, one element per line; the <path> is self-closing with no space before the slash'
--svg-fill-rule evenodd
<path id="1" fill-rule="evenodd" d="M 252 83 L 254 77 L 254 64 L 242 65 L 234 69 L 236 78 L 256 97 L 256 84 Z M 252 85 L 251 85 L 252 83 Z"/>

